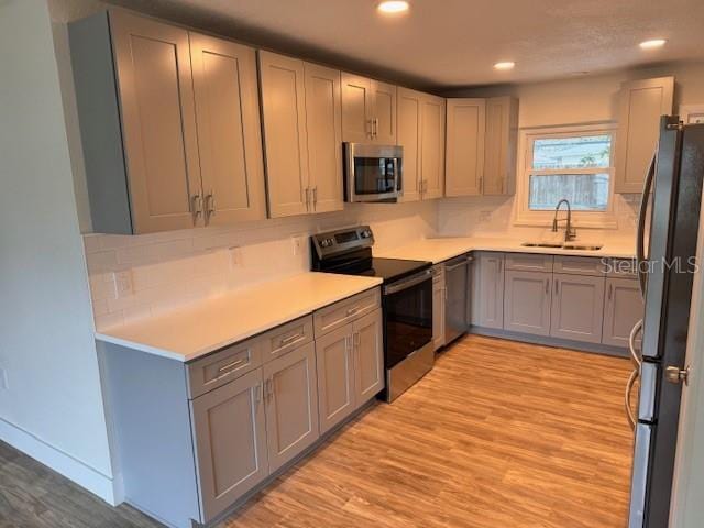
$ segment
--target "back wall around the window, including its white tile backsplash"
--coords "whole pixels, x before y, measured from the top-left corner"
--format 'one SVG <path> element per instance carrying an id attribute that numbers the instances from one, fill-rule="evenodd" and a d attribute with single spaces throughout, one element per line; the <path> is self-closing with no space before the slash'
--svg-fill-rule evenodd
<path id="1" fill-rule="evenodd" d="M 704 63 L 674 64 L 547 82 L 453 90 L 447 95 L 451 97 L 515 96 L 519 99 L 518 127 L 520 129 L 581 124 L 617 121 L 618 90 L 623 81 L 666 75 L 675 77 L 675 111 L 682 103 L 704 103 Z M 514 208 L 513 197 L 468 197 L 442 200 L 438 212 L 438 229 L 446 235 L 510 234 L 539 238 L 549 234 L 544 228 L 514 226 Z M 616 195 L 615 212 L 618 229 L 581 229 L 578 234 L 583 240 L 605 242 L 614 239 L 630 240 L 635 234 L 637 210 L 637 195 Z"/>

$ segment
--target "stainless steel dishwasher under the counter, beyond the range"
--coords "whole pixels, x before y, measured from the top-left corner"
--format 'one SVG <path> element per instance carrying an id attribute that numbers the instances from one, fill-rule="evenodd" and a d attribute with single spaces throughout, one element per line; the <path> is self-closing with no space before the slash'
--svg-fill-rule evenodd
<path id="1" fill-rule="evenodd" d="M 470 266 L 472 257 L 461 255 L 444 265 L 444 342 L 463 336 L 470 323 Z"/>

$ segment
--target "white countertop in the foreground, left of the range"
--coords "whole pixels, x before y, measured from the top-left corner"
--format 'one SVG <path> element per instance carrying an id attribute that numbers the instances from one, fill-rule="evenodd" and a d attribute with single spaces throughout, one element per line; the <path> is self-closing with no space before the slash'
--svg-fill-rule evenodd
<path id="1" fill-rule="evenodd" d="M 96 339 L 186 362 L 382 284 L 302 273 L 96 332 Z"/>

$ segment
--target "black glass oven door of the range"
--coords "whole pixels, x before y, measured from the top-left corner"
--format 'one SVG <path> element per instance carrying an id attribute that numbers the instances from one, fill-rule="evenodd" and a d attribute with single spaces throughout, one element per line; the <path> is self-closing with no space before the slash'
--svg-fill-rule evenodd
<path id="1" fill-rule="evenodd" d="M 384 288 L 385 363 L 393 369 L 432 340 L 432 271 Z"/>

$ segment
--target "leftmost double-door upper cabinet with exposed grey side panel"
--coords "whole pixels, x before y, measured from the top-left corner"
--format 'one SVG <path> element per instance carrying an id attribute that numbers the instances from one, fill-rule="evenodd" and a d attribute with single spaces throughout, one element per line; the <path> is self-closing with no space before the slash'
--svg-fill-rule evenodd
<path id="1" fill-rule="evenodd" d="M 265 217 L 252 48 L 122 10 L 69 38 L 96 232 Z"/>

